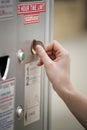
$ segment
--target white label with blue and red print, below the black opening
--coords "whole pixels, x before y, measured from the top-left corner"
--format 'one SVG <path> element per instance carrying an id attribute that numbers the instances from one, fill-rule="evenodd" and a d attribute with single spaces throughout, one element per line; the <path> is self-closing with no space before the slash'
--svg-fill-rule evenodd
<path id="1" fill-rule="evenodd" d="M 14 129 L 15 79 L 0 82 L 0 130 Z"/>

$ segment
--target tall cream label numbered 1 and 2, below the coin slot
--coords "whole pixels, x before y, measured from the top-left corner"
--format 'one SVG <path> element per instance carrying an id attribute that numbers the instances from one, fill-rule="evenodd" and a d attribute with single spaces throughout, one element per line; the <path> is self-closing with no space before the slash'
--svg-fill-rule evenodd
<path id="1" fill-rule="evenodd" d="M 37 62 L 25 65 L 24 125 L 40 119 L 41 68 Z"/>

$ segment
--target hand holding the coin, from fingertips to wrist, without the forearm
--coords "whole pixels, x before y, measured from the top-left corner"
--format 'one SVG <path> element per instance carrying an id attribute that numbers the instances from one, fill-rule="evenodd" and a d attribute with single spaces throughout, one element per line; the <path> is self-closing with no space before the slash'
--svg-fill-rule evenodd
<path id="1" fill-rule="evenodd" d="M 55 91 L 60 95 L 62 91 L 71 89 L 69 53 L 57 41 L 53 41 L 45 49 L 37 45 L 36 52 L 40 57 L 38 66 L 44 64 Z"/>

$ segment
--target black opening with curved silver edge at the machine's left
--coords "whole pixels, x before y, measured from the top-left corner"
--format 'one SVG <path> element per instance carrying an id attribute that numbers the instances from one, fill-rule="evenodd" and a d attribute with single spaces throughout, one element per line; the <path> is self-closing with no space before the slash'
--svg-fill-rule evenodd
<path id="1" fill-rule="evenodd" d="M 2 80 L 5 80 L 7 78 L 9 65 L 10 65 L 9 56 L 0 57 L 0 76 Z"/>

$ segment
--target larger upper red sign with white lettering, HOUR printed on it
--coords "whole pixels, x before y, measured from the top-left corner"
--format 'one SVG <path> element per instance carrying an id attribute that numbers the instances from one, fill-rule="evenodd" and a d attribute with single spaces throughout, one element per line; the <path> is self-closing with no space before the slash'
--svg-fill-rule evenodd
<path id="1" fill-rule="evenodd" d="M 18 14 L 33 14 L 46 11 L 45 2 L 18 4 Z"/>

